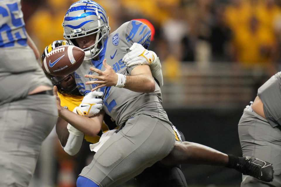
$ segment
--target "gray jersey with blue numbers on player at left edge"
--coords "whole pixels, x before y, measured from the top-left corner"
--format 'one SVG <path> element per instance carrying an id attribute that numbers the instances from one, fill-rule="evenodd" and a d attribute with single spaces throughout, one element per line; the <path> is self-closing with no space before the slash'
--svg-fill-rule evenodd
<path id="1" fill-rule="evenodd" d="M 38 65 L 27 35 L 20 0 L 0 0 L 0 104 L 52 83 Z"/>

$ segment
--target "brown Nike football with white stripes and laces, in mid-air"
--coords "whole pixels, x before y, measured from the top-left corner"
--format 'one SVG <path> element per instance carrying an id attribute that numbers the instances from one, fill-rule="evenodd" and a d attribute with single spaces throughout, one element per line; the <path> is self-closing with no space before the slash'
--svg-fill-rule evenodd
<path id="1" fill-rule="evenodd" d="M 76 46 L 63 45 L 50 51 L 42 63 L 42 69 L 54 76 L 69 75 L 82 64 L 85 52 Z"/>

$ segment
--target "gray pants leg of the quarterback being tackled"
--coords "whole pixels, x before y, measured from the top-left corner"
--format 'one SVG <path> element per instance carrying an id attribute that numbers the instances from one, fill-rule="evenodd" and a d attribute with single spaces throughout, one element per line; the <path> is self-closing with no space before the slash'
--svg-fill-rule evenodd
<path id="1" fill-rule="evenodd" d="M 119 185 L 167 156 L 174 142 L 170 124 L 148 115 L 137 115 L 104 143 L 80 176 L 98 186 Z"/>

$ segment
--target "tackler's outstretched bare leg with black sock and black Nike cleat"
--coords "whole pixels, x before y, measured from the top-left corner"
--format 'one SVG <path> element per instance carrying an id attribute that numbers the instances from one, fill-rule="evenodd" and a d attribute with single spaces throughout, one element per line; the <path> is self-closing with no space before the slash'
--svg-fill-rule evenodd
<path id="1" fill-rule="evenodd" d="M 280 141 L 279 141 L 280 143 Z M 263 181 L 273 178 L 272 165 L 255 157 L 236 157 L 193 142 L 176 142 L 172 152 L 162 160 L 165 165 L 198 164 L 225 166 Z"/>

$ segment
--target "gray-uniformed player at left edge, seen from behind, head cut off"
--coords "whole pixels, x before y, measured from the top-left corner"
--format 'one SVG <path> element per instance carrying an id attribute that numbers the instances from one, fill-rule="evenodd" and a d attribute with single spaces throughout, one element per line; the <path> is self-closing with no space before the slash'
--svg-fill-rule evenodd
<path id="1" fill-rule="evenodd" d="M 58 115 L 20 0 L 0 1 L 0 186 L 26 187 Z"/>

